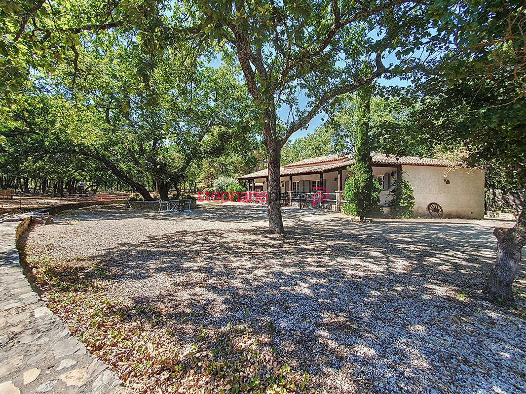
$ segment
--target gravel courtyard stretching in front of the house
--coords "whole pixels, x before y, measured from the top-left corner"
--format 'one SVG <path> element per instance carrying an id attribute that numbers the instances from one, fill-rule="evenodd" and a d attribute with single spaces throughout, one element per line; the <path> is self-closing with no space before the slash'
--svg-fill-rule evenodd
<path id="1" fill-rule="evenodd" d="M 215 360 L 211 344 L 228 330 L 263 355 L 254 369 L 240 372 L 241 380 L 260 376 L 258 369 L 268 367 L 261 360 L 270 360 L 275 371 L 288 365 L 308 376 L 306 391 L 526 392 L 524 259 L 518 308 L 489 304 L 480 292 L 494 257 L 492 228 L 513 222 L 358 224 L 342 214 L 290 208 L 283 215 L 287 235 L 278 237 L 267 234 L 260 205 L 209 205 L 191 213 L 80 209 L 29 234 L 28 263 L 37 277 L 48 275 L 39 274 L 39 256 L 59 264 L 57 277 L 67 278 L 75 267 L 69 277 L 78 276 L 80 284 L 92 280 L 86 270 L 96 269 L 97 292 L 144 311 L 147 318 L 117 315 L 147 334 L 130 328 L 112 344 L 96 347 L 108 343 L 96 336 L 88 344 L 138 391 L 236 392 L 231 383 L 221 386 L 220 374 L 197 367 L 173 378 L 179 386 L 163 386 L 159 376 L 174 377 L 176 367 L 140 375 L 130 372 L 133 352 L 118 352 L 124 341 L 134 341 L 130 335 L 147 335 L 160 353 L 194 346 L 195 354 L 208 352 Z M 71 286 L 67 301 L 53 291 L 58 282 L 41 282 L 43 298 L 81 340 L 88 340 L 85 331 L 108 329 L 84 322 L 82 308 L 68 307 L 76 299 Z M 73 290 L 83 291 L 80 285 Z M 203 333 L 216 341 L 199 343 Z M 231 346 L 242 348 L 238 339 Z M 276 392 L 300 388 L 291 383 L 284 390 Z"/>

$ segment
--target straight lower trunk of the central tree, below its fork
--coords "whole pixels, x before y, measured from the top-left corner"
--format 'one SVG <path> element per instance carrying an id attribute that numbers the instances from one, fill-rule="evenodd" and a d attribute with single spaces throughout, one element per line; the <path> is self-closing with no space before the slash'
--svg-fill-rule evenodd
<path id="1" fill-rule="evenodd" d="M 281 147 L 276 140 L 267 140 L 268 159 L 268 228 L 271 234 L 285 234 L 281 218 L 281 186 L 279 181 L 279 167 L 281 161 Z"/>

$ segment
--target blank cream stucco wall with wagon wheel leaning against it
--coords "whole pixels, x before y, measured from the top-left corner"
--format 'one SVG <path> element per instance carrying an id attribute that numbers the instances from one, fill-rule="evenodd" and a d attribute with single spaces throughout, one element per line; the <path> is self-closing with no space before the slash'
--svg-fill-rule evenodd
<path id="1" fill-rule="evenodd" d="M 402 165 L 402 178 L 413 186 L 415 215 L 428 215 L 427 206 L 436 202 L 447 217 L 484 217 L 482 169 Z"/>

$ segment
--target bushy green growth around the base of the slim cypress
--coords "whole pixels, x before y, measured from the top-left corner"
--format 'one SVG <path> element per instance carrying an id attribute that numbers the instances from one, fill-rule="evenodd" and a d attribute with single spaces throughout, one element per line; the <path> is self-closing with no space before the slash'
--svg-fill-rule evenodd
<path id="1" fill-rule="evenodd" d="M 379 208 L 378 203 L 380 202 L 379 195 L 382 186 L 378 180 L 369 173 L 364 174 L 360 171 L 358 174 L 355 174 L 353 169 L 350 169 L 350 172 L 351 176 L 347 179 L 345 182 L 345 188 L 343 188 L 343 198 L 346 202 L 342 205 L 341 210 L 344 213 L 353 216 L 372 216 L 379 214 L 381 209 Z M 367 186 L 370 186 L 371 188 L 370 199 L 367 198 L 369 193 L 363 193 L 363 212 L 359 212 L 357 198 L 359 193 Z M 364 197 L 366 198 L 364 199 Z"/>

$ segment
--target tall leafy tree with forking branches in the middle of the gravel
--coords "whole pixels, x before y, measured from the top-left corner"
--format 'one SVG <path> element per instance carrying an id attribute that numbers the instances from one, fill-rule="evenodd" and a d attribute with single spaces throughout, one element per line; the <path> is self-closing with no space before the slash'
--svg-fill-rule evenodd
<path id="1" fill-rule="evenodd" d="M 425 7 L 405 0 L 187 4 L 178 24 L 190 37 L 217 40 L 226 54 L 233 51 L 243 71 L 268 154 L 269 229 L 282 234 L 281 148 L 339 96 L 409 67 L 410 55 L 431 42 Z M 384 64 L 394 52 L 395 67 Z"/>

